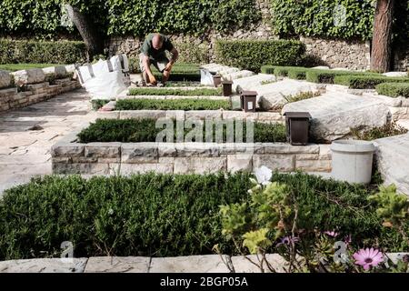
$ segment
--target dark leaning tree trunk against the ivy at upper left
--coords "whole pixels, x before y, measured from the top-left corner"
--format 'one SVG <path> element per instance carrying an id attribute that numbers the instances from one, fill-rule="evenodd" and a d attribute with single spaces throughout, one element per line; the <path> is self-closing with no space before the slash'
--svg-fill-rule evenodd
<path id="1" fill-rule="evenodd" d="M 104 54 L 104 38 L 96 33 L 95 26 L 78 8 L 67 4 L 65 9 L 85 42 L 88 62 L 92 61 L 94 55 Z"/>

